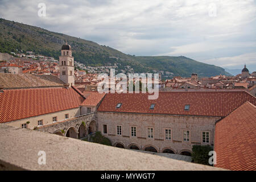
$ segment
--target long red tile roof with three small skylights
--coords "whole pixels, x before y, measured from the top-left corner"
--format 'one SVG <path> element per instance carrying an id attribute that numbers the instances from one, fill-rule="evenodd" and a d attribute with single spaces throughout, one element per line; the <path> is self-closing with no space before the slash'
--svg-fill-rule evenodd
<path id="1" fill-rule="evenodd" d="M 225 117 L 245 101 L 256 104 L 256 98 L 243 91 L 159 92 L 156 100 L 148 100 L 148 93 L 107 93 L 97 111 Z M 122 106 L 117 109 L 119 102 Z M 184 110 L 185 105 L 190 105 L 189 110 Z"/>

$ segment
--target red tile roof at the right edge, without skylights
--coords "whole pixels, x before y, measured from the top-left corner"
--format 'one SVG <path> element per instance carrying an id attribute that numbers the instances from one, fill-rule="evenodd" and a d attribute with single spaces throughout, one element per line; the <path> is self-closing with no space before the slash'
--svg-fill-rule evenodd
<path id="1" fill-rule="evenodd" d="M 216 167 L 256 170 L 256 106 L 245 102 L 216 123 Z"/>

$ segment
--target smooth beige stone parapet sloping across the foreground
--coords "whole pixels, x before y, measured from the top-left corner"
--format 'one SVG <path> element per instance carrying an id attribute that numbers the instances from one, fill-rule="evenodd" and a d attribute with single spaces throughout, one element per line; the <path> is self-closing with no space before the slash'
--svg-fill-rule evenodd
<path id="1" fill-rule="evenodd" d="M 17 129 L 1 123 L 0 146 L 0 171 L 222 170 L 49 133 Z M 40 164 L 43 156 L 45 163 Z"/>

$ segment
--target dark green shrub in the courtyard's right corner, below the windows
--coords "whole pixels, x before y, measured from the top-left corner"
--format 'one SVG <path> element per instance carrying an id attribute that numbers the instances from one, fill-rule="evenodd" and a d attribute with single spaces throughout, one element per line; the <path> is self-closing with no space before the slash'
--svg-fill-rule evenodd
<path id="1" fill-rule="evenodd" d="M 213 147 L 209 145 L 200 146 L 200 145 L 193 145 L 192 147 L 192 162 L 198 164 L 205 164 L 209 165 L 209 151 L 212 151 Z"/>

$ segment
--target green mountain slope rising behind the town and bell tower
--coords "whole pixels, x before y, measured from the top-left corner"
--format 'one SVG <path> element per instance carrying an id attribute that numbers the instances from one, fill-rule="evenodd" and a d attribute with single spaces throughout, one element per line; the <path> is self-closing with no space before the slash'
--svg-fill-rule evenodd
<path id="1" fill-rule="evenodd" d="M 184 56 L 126 55 L 116 49 L 101 46 L 92 41 L 0 19 L 0 52 L 18 52 L 16 51 L 18 49 L 59 59 L 60 48 L 65 39 L 72 46 L 76 61 L 90 66 L 119 63 L 117 73 L 126 65 L 130 65 L 134 72 L 138 73 L 155 70 L 174 73 L 171 76 L 191 76 L 192 72 L 199 73 L 201 77 L 219 74 L 229 75 L 223 68 L 200 63 Z"/>

